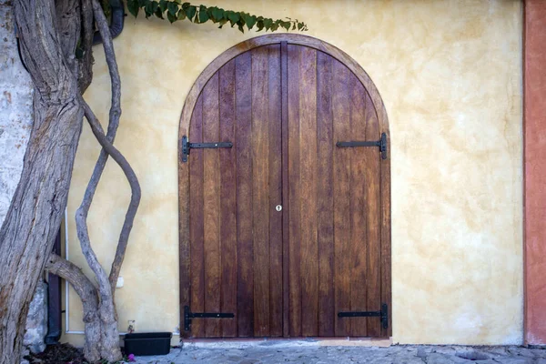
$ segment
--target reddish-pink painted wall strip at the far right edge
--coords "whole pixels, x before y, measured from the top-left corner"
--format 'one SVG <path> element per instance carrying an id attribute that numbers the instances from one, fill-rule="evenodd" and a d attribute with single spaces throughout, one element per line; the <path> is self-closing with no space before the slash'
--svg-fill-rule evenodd
<path id="1" fill-rule="evenodd" d="M 546 344 L 546 1 L 525 2 L 525 341 Z"/>

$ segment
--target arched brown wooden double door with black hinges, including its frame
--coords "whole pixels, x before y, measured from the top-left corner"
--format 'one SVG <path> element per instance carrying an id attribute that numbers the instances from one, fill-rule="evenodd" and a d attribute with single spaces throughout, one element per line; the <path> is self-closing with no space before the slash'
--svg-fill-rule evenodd
<path id="1" fill-rule="evenodd" d="M 390 336 L 387 116 L 349 56 L 302 35 L 219 56 L 179 184 L 184 336 Z"/>

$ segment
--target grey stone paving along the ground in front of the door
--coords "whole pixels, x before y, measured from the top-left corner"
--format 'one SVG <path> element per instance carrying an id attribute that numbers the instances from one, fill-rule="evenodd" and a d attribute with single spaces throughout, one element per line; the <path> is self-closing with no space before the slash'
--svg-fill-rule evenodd
<path id="1" fill-rule="evenodd" d="M 416 345 L 394 345 L 389 348 L 282 346 L 267 342 L 251 347 L 211 349 L 190 344 L 183 349 L 172 349 L 166 356 L 136 357 L 136 363 L 546 364 L 546 349 Z"/>

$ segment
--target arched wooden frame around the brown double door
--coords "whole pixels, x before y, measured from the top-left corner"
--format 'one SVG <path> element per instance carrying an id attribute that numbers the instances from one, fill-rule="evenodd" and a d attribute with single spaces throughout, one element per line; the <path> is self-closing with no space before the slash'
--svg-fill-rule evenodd
<path id="1" fill-rule="evenodd" d="M 179 282 L 180 282 L 180 337 L 187 337 L 184 332 L 184 306 L 190 301 L 190 245 L 189 245 L 189 168 L 188 163 L 182 162 L 182 136 L 189 135 L 190 120 L 197 98 L 210 77 L 224 66 L 229 60 L 247 52 L 250 49 L 263 45 L 274 45 L 286 42 L 292 45 L 305 45 L 334 57 L 357 76 L 364 88 L 368 91 L 371 101 L 377 112 L 379 134 L 385 133 L 390 146 L 389 119 L 383 100 L 377 87 L 366 71 L 349 55 L 334 45 L 308 35 L 273 34 L 261 35 L 234 45 L 217 56 L 197 77 L 190 88 L 180 116 L 178 129 L 178 239 L 179 239 Z M 390 147 L 387 149 L 387 158 L 379 162 L 380 204 L 381 204 L 381 302 L 389 305 L 389 329 L 381 330 L 381 337 L 392 336 L 392 293 L 391 293 L 391 244 L 390 244 Z M 288 324 L 284 323 L 285 326 Z"/>

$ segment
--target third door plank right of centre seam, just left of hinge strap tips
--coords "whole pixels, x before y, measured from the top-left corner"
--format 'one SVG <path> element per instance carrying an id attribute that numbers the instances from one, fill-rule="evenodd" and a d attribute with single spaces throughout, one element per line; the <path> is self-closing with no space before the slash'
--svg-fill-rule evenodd
<path id="1" fill-rule="evenodd" d="M 317 224 L 319 239 L 319 336 L 334 336 L 334 199 L 332 62 L 317 53 Z"/>

